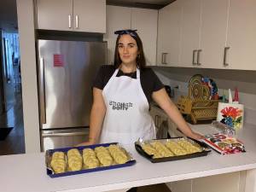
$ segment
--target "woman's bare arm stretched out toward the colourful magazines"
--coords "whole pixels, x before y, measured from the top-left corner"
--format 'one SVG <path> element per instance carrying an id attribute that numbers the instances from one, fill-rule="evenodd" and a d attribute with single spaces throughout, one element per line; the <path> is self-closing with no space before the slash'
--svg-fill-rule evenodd
<path id="1" fill-rule="evenodd" d="M 187 137 L 194 139 L 201 139 L 202 136 L 191 130 L 187 122 L 183 119 L 183 116 L 178 111 L 176 105 L 172 102 L 170 97 L 167 95 L 166 90 L 163 88 L 161 90 L 154 91 L 152 94 L 154 102 L 156 102 L 160 108 L 162 108 L 172 121 L 177 125 L 178 129 L 182 131 Z"/>

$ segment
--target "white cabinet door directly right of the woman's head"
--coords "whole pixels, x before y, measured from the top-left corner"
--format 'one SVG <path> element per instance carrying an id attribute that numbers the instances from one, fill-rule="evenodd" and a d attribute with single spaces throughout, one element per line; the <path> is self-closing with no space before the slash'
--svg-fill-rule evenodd
<path id="1" fill-rule="evenodd" d="M 147 66 L 156 65 L 157 19 L 158 10 L 131 9 L 131 29 L 137 29 L 137 33 L 143 41 Z"/>

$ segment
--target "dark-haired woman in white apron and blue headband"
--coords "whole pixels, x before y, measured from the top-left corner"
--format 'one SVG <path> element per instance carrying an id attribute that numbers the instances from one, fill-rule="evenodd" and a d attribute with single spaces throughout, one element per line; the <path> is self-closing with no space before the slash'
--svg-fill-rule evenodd
<path id="1" fill-rule="evenodd" d="M 155 138 L 149 115 L 151 99 L 162 108 L 183 133 L 195 139 L 181 113 L 167 95 L 153 70 L 145 67 L 143 44 L 137 30 L 117 31 L 114 65 L 102 66 L 93 88 L 89 142 L 134 143 L 138 137 Z"/>

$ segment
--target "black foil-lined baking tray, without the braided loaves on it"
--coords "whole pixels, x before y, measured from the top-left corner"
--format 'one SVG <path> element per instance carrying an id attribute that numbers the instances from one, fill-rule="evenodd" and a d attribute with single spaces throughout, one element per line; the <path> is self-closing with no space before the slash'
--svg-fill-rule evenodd
<path id="1" fill-rule="evenodd" d="M 152 143 L 153 141 L 160 141 L 161 143 L 165 143 L 168 141 L 175 142 L 178 140 L 187 140 L 190 143 L 198 143 L 201 146 L 202 151 L 194 153 L 194 154 L 184 154 L 184 155 L 178 155 L 178 156 L 172 156 L 172 157 L 163 157 L 163 158 L 153 159 L 153 154 L 151 154 L 151 155 L 147 154 L 141 146 L 141 144 L 143 144 L 143 143 Z M 212 149 L 209 148 L 205 143 L 201 143 L 194 139 L 185 138 L 185 137 L 173 137 L 170 139 L 154 139 L 154 140 L 147 140 L 147 141 L 143 141 L 142 139 L 139 139 L 135 143 L 135 148 L 139 154 L 141 154 L 146 159 L 150 160 L 152 163 L 160 163 L 160 162 L 166 162 L 166 161 L 172 161 L 172 160 L 185 160 L 185 159 L 190 159 L 190 158 L 195 158 L 195 157 L 201 157 L 201 156 L 206 156 L 209 152 L 212 151 Z"/>

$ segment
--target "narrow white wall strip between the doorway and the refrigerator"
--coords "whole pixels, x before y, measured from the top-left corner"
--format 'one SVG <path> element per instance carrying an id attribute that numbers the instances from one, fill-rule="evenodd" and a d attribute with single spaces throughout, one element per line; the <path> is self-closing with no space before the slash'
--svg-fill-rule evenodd
<path id="1" fill-rule="evenodd" d="M 17 1 L 26 153 L 40 151 L 33 0 Z"/>

